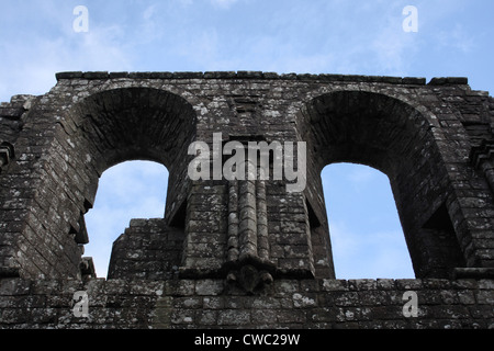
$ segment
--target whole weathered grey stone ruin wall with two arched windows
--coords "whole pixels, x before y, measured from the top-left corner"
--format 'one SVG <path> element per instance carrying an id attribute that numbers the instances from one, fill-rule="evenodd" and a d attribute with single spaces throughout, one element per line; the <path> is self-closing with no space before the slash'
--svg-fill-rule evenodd
<path id="1" fill-rule="evenodd" d="M 0 328 L 492 328 L 493 117 L 465 78 L 58 73 L 0 106 Z M 214 133 L 306 141 L 307 186 L 191 181 L 187 148 Z M 167 167 L 166 212 L 97 278 L 83 215 L 134 159 Z M 321 171 L 341 161 L 390 178 L 415 280 L 336 279 Z"/>

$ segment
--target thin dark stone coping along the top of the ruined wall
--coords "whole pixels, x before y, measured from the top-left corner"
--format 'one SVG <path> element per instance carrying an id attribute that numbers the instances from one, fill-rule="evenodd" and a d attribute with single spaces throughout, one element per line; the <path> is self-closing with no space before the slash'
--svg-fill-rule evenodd
<path id="1" fill-rule="evenodd" d="M 380 82 L 392 84 L 425 86 L 426 78 L 386 77 L 386 76 L 356 76 L 356 75 L 311 75 L 311 73 L 277 73 L 262 71 L 206 71 L 206 72 L 108 72 L 108 71 L 67 71 L 56 73 L 57 81 L 63 79 L 265 79 L 265 80 L 318 80 L 318 81 L 350 81 Z M 433 78 L 430 86 L 468 84 L 465 77 Z"/>

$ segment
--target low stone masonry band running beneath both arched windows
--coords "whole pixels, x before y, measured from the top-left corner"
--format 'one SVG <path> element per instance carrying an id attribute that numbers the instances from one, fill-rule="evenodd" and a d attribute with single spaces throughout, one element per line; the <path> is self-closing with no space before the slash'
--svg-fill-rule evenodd
<path id="1" fill-rule="evenodd" d="M 492 280 L 280 280 L 246 296 L 224 280 L 0 282 L 0 328 L 64 329 L 486 329 Z M 89 295 L 89 317 L 72 296 Z M 418 316 L 405 317 L 405 292 Z"/>

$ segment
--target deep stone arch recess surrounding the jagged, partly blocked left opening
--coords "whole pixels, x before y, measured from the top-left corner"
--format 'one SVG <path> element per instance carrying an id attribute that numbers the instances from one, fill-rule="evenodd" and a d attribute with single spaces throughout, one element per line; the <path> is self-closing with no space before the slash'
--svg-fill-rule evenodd
<path id="1" fill-rule="evenodd" d="M 21 274 L 81 276 L 81 248 L 88 242 L 83 215 L 92 207 L 102 172 L 123 161 L 150 160 L 168 169 L 162 225 L 184 227 L 187 149 L 197 127 L 189 102 L 159 89 L 112 89 L 87 97 L 56 118 L 30 208 L 31 218 L 49 214 L 35 226 L 46 241 L 36 248 L 40 262 L 21 263 Z"/>

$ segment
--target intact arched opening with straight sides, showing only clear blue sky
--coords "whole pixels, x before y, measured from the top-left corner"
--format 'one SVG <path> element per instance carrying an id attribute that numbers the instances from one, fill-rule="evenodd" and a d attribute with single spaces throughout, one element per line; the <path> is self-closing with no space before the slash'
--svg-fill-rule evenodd
<path id="1" fill-rule="evenodd" d="M 415 278 L 389 178 L 367 166 L 333 163 L 322 180 L 336 278 Z"/>

